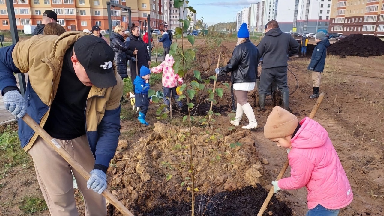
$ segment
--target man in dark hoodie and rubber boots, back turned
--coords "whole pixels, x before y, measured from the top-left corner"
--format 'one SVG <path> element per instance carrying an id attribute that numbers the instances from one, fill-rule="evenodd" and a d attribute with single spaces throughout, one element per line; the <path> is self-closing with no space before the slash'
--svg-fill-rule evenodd
<path id="1" fill-rule="evenodd" d="M 263 57 L 259 89 L 260 111 L 265 111 L 265 97 L 273 80 L 276 81 L 283 95 L 284 108 L 290 110 L 287 76 L 288 57 L 298 55 L 299 47 L 299 43 L 291 35 L 281 32 L 279 24 L 275 20 L 268 22 L 265 37 L 257 46 L 260 56 Z M 291 51 L 288 52 L 290 48 Z"/>

